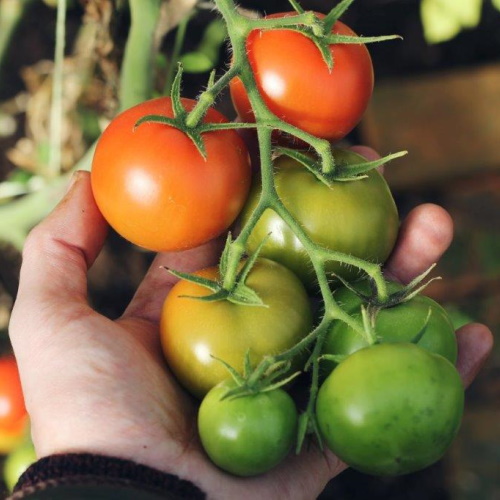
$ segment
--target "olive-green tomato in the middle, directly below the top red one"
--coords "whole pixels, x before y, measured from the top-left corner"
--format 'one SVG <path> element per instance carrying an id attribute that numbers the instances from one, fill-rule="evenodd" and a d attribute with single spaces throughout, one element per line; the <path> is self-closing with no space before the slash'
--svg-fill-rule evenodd
<path id="1" fill-rule="evenodd" d="M 364 161 L 352 151 L 335 149 L 333 154 L 338 164 Z M 335 182 L 328 187 L 301 163 L 281 156 L 275 161 L 275 182 L 284 205 L 313 242 L 371 262 L 385 262 L 396 242 L 399 220 L 389 187 L 378 171 L 369 172 L 363 180 Z M 260 183 L 255 183 L 241 214 L 243 224 L 260 193 Z M 316 276 L 302 243 L 274 211 L 264 212 L 247 250 L 255 252 L 268 235 L 260 255 L 287 266 L 314 289 Z M 327 272 L 345 279 L 360 274 L 356 268 L 333 261 L 327 264 Z"/>

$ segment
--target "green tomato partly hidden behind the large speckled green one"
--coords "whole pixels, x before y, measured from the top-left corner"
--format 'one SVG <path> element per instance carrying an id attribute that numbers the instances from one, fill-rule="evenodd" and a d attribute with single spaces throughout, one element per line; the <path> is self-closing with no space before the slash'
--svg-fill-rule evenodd
<path id="1" fill-rule="evenodd" d="M 366 281 L 355 283 L 355 288 L 369 293 Z M 390 293 L 402 289 L 398 283 L 388 283 Z M 363 300 L 348 288 L 335 291 L 335 299 L 351 316 L 361 321 Z M 430 317 L 427 316 L 430 312 Z M 428 351 L 441 354 L 455 363 L 457 360 L 457 339 L 455 329 L 448 313 L 434 300 L 425 295 L 417 295 L 407 302 L 381 309 L 375 321 L 375 334 L 379 342 L 412 342 L 422 330 L 425 331 L 418 345 Z M 343 321 L 336 321 L 328 332 L 323 346 L 324 354 L 348 355 L 367 347 L 367 341 Z M 331 371 L 335 364 L 322 363 L 322 371 Z"/>

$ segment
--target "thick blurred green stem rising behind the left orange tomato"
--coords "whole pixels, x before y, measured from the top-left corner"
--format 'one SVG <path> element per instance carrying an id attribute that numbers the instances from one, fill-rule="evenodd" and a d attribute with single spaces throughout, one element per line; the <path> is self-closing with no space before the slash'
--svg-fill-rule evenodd
<path id="1" fill-rule="evenodd" d="M 119 101 L 123 111 L 153 95 L 155 33 L 161 0 L 129 0 L 130 31 L 121 67 Z"/>

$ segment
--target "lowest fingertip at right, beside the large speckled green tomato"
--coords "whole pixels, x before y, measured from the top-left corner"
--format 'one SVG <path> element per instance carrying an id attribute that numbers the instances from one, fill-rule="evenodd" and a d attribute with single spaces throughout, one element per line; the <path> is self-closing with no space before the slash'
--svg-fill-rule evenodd
<path id="1" fill-rule="evenodd" d="M 493 335 L 485 325 L 471 323 L 457 331 L 457 342 L 457 369 L 468 387 L 493 349 Z"/>

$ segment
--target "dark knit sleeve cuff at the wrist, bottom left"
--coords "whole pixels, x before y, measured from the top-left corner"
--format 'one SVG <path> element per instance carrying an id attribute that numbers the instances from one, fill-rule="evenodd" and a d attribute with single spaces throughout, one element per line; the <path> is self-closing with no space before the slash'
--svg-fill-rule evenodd
<path id="1" fill-rule="evenodd" d="M 91 454 L 42 458 L 19 478 L 8 500 L 203 499 L 193 483 L 130 460 Z"/>

